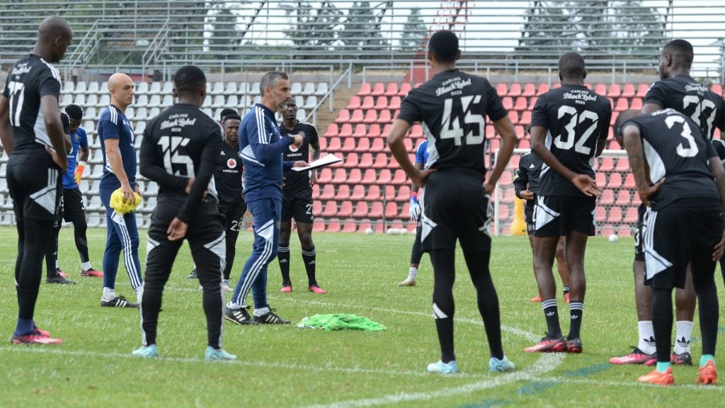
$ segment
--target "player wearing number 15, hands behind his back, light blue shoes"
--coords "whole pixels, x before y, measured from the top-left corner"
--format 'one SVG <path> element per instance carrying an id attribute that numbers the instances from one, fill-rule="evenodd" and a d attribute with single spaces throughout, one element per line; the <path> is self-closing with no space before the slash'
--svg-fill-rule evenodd
<path id="1" fill-rule="evenodd" d="M 199 68 L 193 65 L 179 68 L 174 75 L 173 89 L 178 102 L 149 121 L 141 142 L 141 174 L 159 184 L 141 289 L 144 344 L 133 351 L 134 355 L 144 358 L 158 355 L 156 329 L 162 293 L 186 238 L 204 288 L 208 341 L 205 359 L 236 359 L 221 346 L 224 216 L 219 213 L 212 174 L 222 148 L 222 135 L 219 124 L 199 109 L 207 94 L 206 83 Z"/>

